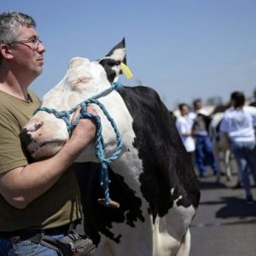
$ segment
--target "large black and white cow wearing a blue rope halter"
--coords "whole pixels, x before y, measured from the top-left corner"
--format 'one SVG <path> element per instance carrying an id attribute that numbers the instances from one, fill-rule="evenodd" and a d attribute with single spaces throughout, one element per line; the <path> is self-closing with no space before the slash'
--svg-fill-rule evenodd
<path id="1" fill-rule="evenodd" d="M 67 111 L 80 106 L 117 82 L 119 73 L 124 73 L 122 63 L 126 63 L 125 39 L 100 60 L 75 57 L 69 62 L 61 82 L 43 97 L 42 108 L 20 132 L 23 147 L 34 160 L 55 154 L 69 138 L 67 122 L 44 107 Z M 109 193 L 119 207 L 97 202 L 102 187 L 95 143 L 76 160 L 82 167 L 78 177 L 84 230 L 96 244 L 96 255 L 189 255 L 189 225 L 200 189 L 174 119 L 157 92 L 146 86 L 124 86 L 98 101 L 118 127 L 122 148 L 108 165 Z M 102 108 L 97 104 L 94 108 L 106 155 L 112 155 L 117 133 Z M 73 113 L 69 121 L 72 118 Z M 80 164 L 84 162 L 85 167 Z"/>

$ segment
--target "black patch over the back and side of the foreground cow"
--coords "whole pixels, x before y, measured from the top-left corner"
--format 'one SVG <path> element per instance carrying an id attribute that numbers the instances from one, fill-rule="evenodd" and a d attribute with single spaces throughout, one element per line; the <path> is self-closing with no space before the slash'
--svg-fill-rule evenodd
<path id="1" fill-rule="evenodd" d="M 136 134 L 134 145 L 144 166 L 142 189 L 153 215 L 163 216 L 168 211 L 172 204 L 172 188 L 183 195 L 181 203 L 184 206 L 197 207 L 200 192 L 194 168 L 175 121 L 159 95 L 145 86 L 125 87 L 120 94 L 135 120 L 132 125 Z M 154 189 L 159 191 L 158 198 L 150 196 Z"/>

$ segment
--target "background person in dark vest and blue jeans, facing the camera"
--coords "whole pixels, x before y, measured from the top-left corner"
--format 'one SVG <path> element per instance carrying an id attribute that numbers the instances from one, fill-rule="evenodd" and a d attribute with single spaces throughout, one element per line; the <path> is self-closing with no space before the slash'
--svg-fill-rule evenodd
<path id="1" fill-rule="evenodd" d="M 208 127 L 211 118 L 207 111 L 203 108 L 201 99 L 193 102 L 195 109 L 195 119 L 192 127 L 192 133 L 195 137 L 195 162 L 201 177 L 207 172 L 205 163 L 208 161 L 212 167 L 214 175 L 217 175 L 217 165 L 212 153 L 212 142 L 208 135 Z"/>

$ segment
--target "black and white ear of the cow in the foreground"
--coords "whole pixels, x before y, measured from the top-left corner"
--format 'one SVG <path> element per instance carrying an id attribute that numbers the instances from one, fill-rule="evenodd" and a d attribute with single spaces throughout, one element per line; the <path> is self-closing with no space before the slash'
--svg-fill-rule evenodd
<path id="1" fill-rule="evenodd" d="M 126 64 L 125 55 L 125 38 L 115 45 L 104 58 L 102 58 L 99 63 L 104 67 L 108 81 L 112 84 L 119 77 L 119 73 L 122 73 L 121 62 Z"/>

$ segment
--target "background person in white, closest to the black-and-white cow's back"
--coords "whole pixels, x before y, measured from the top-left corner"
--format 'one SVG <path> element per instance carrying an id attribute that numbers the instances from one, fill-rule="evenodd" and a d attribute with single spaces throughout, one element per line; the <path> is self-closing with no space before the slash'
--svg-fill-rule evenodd
<path id="1" fill-rule="evenodd" d="M 176 119 L 177 131 L 182 139 L 183 145 L 190 155 L 193 165 L 195 164 L 195 140 L 192 137 L 193 119 L 189 117 L 189 105 L 181 103 L 178 105 L 180 116 Z"/>

